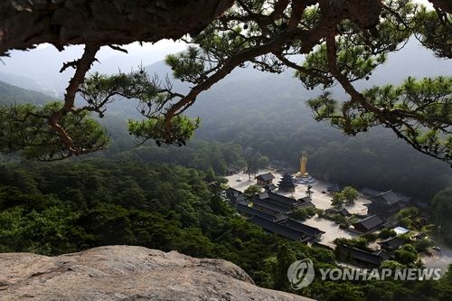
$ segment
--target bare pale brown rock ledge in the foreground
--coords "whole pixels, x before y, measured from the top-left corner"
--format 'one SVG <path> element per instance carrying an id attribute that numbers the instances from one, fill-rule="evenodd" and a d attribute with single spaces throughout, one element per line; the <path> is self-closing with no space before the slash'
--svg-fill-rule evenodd
<path id="1" fill-rule="evenodd" d="M 231 262 L 108 246 L 57 257 L 0 254 L 0 300 L 306 301 L 256 287 Z"/>

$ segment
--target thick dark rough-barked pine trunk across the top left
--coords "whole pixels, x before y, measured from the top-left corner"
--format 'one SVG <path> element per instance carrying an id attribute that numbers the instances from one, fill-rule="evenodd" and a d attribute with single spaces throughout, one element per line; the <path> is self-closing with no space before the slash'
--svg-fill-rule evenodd
<path id="1" fill-rule="evenodd" d="M 127 44 L 178 39 L 202 29 L 233 0 L 4 0 L 0 55 L 43 42 Z"/>

